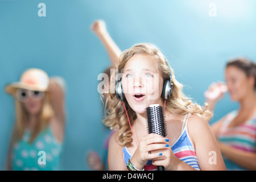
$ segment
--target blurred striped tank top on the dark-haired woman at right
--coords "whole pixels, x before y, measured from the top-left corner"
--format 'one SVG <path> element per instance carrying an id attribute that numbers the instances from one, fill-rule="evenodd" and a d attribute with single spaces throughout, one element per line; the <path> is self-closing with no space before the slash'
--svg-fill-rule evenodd
<path id="1" fill-rule="evenodd" d="M 228 144 L 238 150 L 255 152 L 256 139 L 256 112 L 253 117 L 242 123 L 240 126 L 229 128 L 230 122 L 237 116 L 238 111 L 234 110 L 226 115 L 223 125 L 218 133 L 218 140 Z M 222 155 L 227 170 L 246 170 L 245 168 L 233 163 L 231 160 Z"/>

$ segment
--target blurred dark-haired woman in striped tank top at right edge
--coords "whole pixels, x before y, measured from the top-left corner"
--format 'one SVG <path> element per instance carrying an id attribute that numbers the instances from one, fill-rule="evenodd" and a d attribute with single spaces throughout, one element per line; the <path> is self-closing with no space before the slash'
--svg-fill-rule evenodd
<path id="1" fill-rule="evenodd" d="M 240 104 L 212 126 L 228 170 L 256 170 L 256 65 L 235 59 L 226 65 L 226 85 L 212 84 L 205 92 L 209 109 L 228 90 L 232 101 Z"/>

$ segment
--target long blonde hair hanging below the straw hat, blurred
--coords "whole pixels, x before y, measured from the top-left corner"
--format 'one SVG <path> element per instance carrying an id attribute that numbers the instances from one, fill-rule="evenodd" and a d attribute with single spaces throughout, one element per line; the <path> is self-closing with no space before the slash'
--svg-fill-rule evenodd
<path id="1" fill-rule="evenodd" d="M 22 138 L 24 130 L 26 129 L 28 113 L 24 108 L 23 104 L 15 98 L 15 111 L 16 111 L 16 122 L 13 131 L 12 143 Z M 38 122 L 36 122 L 35 129 L 31 133 L 31 137 L 28 140 L 30 143 L 34 141 L 40 131 L 46 129 L 49 123 L 49 119 L 53 116 L 53 108 L 50 103 L 49 92 L 45 92 L 43 98 L 42 109 L 38 115 Z"/>

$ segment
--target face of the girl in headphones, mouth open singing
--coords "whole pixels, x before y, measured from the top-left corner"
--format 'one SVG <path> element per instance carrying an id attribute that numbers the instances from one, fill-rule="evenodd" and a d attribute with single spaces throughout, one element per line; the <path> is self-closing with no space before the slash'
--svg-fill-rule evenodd
<path id="1" fill-rule="evenodd" d="M 123 68 L 122 88 L 128 104 L 136 113 L 145 113 L 151 104 L 163 105 L 160 97 L 163 77 L 151 56 L 135 54 L 127 61 Z"/>

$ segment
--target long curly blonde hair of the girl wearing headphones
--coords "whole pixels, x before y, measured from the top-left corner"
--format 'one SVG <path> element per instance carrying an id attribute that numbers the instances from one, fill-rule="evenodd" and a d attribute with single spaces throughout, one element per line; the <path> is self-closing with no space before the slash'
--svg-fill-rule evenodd
<path id="1" fill-rule="evenodd" d="M 206 110 L 207 106 L 202 109 L 200 105 L 193 103 L 190 98 L 186 97 L 183 94 L 183 85 L 175 79 L 174 71 L 168 65 L 166 57 L 164 57 L 163 53 L 160 52 L 159 49 L 153 44 L 139 43 L 135 44 L 133 47 L 127 49 L 126 51 L 123 51 L 121 53 L 121 56 L 119 57 L 118 73 L 122 73 L 122 69 L 125 67 L 127 61 L 129 61 L 131 57 L 133 57 L 135 54 L 152 56 L 155 59 L 156 63 L 158 63 L 158 69 L 163 77 L 163 80 L 169 80 L 171 73 L 173 84 L 172 97 L 168 98 L 166 101 L 166 110 L 176 115 L 185 115 L 187 113 L 200 114 L 207 120 L 212 117 L 212 113 Z M 113 75 L 112 79 L 114 79 Z M 123 102 L 127 109 L 131 125 L 133 125 L 134 120 L 137 118 L 137 115 L 135 111 L 131 109 L 127 101 Z M 131 142 L 133 139 L 131 137 L 132 133 L 126 116 L 126 112 L 122 106 L 122 101 L 120 99 L 117 99 L 115 93 L 108 93 L 108 98 L 105 102 L 105 119 L 103 120 L 103 122 L 106 126 L 109 126 L 110 129 L 118 132 L 119 143 L 121 143 L 123 146 L 131 146 Z"/>

